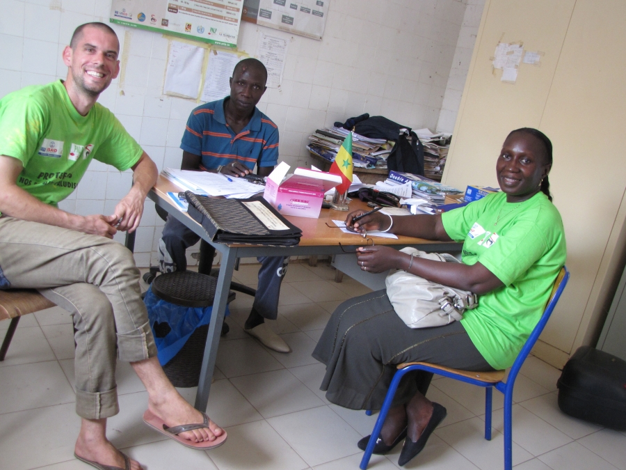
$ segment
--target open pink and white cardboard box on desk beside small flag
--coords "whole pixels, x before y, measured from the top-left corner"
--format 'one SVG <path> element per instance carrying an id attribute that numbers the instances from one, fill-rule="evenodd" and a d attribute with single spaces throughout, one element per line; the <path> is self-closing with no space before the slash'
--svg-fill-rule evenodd
<path id="1" fill-rule="evenodd" d="M 339 185 L 341 176 L 297 168 L 293 175 L 285 178 L 289 168 L 282 162 L 270 173 L 263 197 L 282 215 L 317 219 L 324 193 Z"/>

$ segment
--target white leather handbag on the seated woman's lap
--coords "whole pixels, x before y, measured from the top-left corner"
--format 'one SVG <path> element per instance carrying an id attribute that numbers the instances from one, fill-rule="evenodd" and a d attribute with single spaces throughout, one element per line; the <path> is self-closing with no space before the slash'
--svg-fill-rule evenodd
<path id="1" fill-rule="evenodd" d="M 426 253 L 415 248 L 400 251 L 417 258 L 459 263 L 449 253 Z M 392 270 L 385 284 L 394 310 L 411 328 L 442 327 L 463 318 L 465 309 L 478 306 L 478 297 L 472 292 L 427 281 L 402 269 Z"/>

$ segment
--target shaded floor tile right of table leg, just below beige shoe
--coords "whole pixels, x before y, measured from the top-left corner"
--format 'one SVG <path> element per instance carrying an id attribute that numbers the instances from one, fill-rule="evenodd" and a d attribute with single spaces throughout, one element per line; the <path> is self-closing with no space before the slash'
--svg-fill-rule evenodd
<path id="1" fill-rule="evenodd" d="M 229 378 L 283 368 L 252 338 L 220 344 L 216 365 Z"/>

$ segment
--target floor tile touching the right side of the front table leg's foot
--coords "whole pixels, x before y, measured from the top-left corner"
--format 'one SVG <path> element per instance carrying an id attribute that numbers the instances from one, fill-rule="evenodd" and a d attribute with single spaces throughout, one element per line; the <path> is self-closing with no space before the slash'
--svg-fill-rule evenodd
<path id="1" fill-rule="evenodd" d="M 222 428 L 263 419 L 227 379 L 216 379 L 211 385 L 207 414 Z"/>

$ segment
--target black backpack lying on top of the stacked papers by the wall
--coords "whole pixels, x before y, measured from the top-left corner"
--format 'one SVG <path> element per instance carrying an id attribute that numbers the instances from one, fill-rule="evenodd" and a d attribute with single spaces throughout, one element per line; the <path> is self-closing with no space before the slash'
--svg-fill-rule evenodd
<path id="1" fill-rule="evenodd" d="M 410 127 L 394 123 L 394 121 L 384 116 L 369 116 L 364 114 L 356 118 L 350 118 L 345 124 L 335 123 L 337 127 L 346 125 L 354 125 L 354 132 L 371 139 L 387 139 L 394 141 L 395 145 L 389 157 L 387 157 L 387 168 L 393 171 L 401 171 L 403 173 L 412 173 L 414 175 L 424 176 L 424 146 L 419 141 L 419 137 Z M 350 129 L 352 127 L 349 127 Z M 406 129 L 408 135 L 400 135 L 400 130 Z"/>

